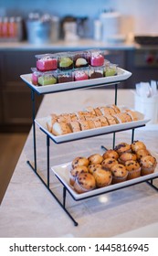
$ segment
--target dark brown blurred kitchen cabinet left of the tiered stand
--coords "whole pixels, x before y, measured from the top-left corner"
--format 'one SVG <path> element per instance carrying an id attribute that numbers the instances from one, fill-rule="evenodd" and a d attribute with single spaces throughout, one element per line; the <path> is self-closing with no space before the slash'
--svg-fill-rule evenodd
<path id="1" fill-rule="evenodd" d="M 27 132 L 31 126 L 30 91 L 24 87 L 20 74 L 35 66 L 31 51 L 1 52 L 0 132 Z M 42 98 L 37 97 L 37 109 Z M 37 112 L 36 109 L 36 112 Z"/>

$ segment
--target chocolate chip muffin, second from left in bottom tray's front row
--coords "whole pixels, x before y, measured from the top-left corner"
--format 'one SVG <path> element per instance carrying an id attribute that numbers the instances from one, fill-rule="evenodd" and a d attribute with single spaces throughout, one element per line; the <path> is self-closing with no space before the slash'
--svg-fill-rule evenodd
<path id="1" fill-rule="evenodd" d="M 111 171 L 104 169 L 104 167 L 98 167 L 93 172 L 93 176 L 95 178 L 97 187 L 106 187 L 111 185 L 111 181 L 112 181 Z"/>

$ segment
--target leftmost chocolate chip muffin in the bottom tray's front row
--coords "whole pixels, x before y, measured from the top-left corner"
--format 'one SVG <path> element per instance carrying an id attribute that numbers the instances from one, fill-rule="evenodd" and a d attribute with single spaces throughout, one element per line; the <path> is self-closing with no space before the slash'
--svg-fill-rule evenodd
<path id="1" fill-rule="evenodd" d="M 92 189 L 96 188 L 96 181 L 94 176 L 90 173 L 80 173 L 76 176 L 74 189 L 79 194 L 88 192 Z"/>

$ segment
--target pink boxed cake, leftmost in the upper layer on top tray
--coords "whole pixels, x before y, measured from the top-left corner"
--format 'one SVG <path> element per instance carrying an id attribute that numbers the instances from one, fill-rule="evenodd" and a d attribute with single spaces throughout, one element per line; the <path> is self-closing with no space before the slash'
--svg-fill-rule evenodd
<path id="1" fill-rule="evenodd" d="M 37 69 L 40 71 L 50 71 L 56 70 L 58 68 L 58 60 L 57 58 L 51 57 L 48 54 L 37 57 Z"/>

